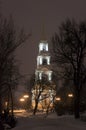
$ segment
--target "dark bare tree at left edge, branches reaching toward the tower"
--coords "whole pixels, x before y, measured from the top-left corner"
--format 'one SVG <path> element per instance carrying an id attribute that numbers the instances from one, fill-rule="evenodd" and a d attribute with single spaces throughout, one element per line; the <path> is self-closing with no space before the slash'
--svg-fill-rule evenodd
<path id="1" fill-rule="evenodd" d="M 15 50 L 26 41 L 29 35 L 15 27 L 12 17 L 5 19 L 0 16 L 0 113 L 3 97 L 11 98 L 13 114 L 12 89 L 18 83 L 18 67 L 15 61 Z"/>

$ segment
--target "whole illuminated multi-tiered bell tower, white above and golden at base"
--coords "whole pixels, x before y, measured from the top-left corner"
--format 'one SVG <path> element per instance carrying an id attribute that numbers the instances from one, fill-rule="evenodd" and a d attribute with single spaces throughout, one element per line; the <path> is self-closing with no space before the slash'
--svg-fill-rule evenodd
<path id="1" fill-rule="evenodd" d="M 39 54 L 37 56 L 37 68 L 35 70 L 35 86 L 32 89 L 32 107 L 34 109 L 38 100 L 38 110 L 53 108 L 56 94 L 55 85 L 52 81 L 52 70 L 47 40 L 39 43 Z"/>

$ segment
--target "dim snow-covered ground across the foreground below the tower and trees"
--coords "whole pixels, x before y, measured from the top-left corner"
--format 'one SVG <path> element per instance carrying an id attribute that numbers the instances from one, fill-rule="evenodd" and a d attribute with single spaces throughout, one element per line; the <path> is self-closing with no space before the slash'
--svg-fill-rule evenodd
<path id="1" fill-rule="evenodd" d="M 75 120 L 73 116 L 42 116 L 19 117 L 18 124 L 12 130 L 86 130 L 86 122 Z"/>

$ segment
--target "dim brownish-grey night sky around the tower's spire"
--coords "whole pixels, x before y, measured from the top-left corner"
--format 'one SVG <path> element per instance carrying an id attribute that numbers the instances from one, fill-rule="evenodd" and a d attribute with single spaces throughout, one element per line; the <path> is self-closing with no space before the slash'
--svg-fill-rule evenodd
<path id="1" fill-rule="evenodd" d="M 22 74 L 33 74 L 44 19 L 48 41 L 66 18 L 86 20 L 86 0 L 1 0 L 2 13 L 12 14 L 18 27 L 32 32 L 31 38 L 16 52 Z"/>

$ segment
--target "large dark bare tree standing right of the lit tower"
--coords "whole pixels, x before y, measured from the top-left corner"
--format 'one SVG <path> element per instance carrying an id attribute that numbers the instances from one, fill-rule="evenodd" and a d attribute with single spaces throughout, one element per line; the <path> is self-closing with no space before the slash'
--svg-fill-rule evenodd
<path id="1" fill-rule="evenodd" d="M 53 61 L 63 78 L 74 83 L 75 118 L 80 117 L 80 92 L 86 80 L 86 21 L 66 20 L 52 38 Z"/>

